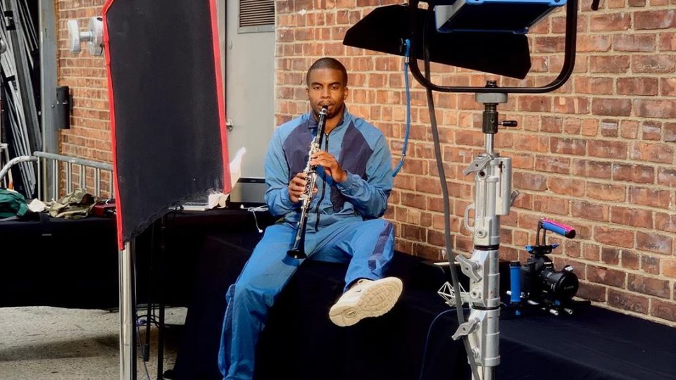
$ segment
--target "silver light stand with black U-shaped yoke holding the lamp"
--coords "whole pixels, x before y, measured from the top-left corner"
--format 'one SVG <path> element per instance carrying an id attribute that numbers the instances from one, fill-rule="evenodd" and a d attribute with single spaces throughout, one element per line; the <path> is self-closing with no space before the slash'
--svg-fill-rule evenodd
<path id="1" fill-rule="evenodd" d="M 596 4 L 598 0 L 594 0 Z M 418 41 L 418 0 L 409 0 L 409 33 L 411 51 L 415 52 L 415 44 Z M 499 88 L 496 82 L 489 81 L 486 87 L 443 87 L 430 82 L 429 65 L 426 62 L 427 72 L 423 76 L 418 66 L 415 53 L 411 54 L 409 68 L 411 74 L 428 91 L 430 102 L 430 120 L 432 118 L 431 91 L 442 92 L 474 92 L 476 101 L 484 103 L 482 132 L 484 133 L 484 153 L 475 158 L 470 167 L 463 173 L 475 175 L 475 201 L 465 209 L 464 223 L 473 234 L 474 250 L 470 258 L 456 255 L 462 272 L 470 279 L 468 292 L 461 291 L 458 284 L 453 253 L 446 241 L 446 251 L 449 257 L 449 266 L 453 285 L 446 283 L 439 290 L 439 294 L 446 299 L 446 303 L 455 306 L 458 314 L 458 329 L 453 334 L 453 339 L 463 338 L 465 350 L 468 354 L 473 380 L 494 379 L 494 368 L 500 364 L 499 350 L 499 317 L 500 317 L 500 274 L 499 274 L 499 248 L 500 248 L 500 216 L 508 215 L 515 196 L 518 193 L 511 191 L 511 158 L 500 157 L 494 151 L 494 134 L 498 132 L 498 126 L 515 127 L 516 122 L 498 122 L 497 105 L 507 102 L 508 93 L 539 94 L 553 91 L 563 86 L 572 74 L 575 67 L 577 39 L 577 0 L 566 3 L 565 23 L 565 57 L 563 67 L 558 77 L 544 87 L 503 87 Z M 429 52 L 429 46 L 423 46 Z M 429 57 L 429 53 L 427 53 Z M 497 59 L 497 57 L 495 58 Z M 433 131 L 436 123 L 432 122 Z M 435 135 L 436 136 L 436 135 Z M 435 141 L 435 149 L 438 148 Z M 438 157 L 439 155 L 437 155 Z M 441 175 L 441 171 L 439 171 Z M 442 186 L 445 179 L 440 178 Z M 444 205 L 446 209 L 446 205 Z M 475 223 L 469 225 L 469 213 L 475 211 Z M 446 211 L 445 211 L 446 213 Z M 446 215 L 448 218 L 449 215 Z M 446 227 L 446 235 L 448 235 Z M 470 315 L 465 322 L 462 312 L 462 304 L 470 305 Z"/>

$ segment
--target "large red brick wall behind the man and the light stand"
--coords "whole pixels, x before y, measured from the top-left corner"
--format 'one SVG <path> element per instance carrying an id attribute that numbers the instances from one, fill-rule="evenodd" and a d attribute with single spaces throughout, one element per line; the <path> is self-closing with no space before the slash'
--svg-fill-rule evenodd
<path id="1" fill-rule="evenodd" d="M 349 108 L 379 127 L 401 152 L 406 117 L 402 59 L 342 45 L 344 33 L 374 6 L 394 0 L 277 0 L 277 121 L 308 110 L 303 78 L 320 56 L 350 72 Z M 513 158 L 521 192 L 503 217 L 501 255 L 525 260 L 539 217 L 571 224 L 556 267 L 575 267 L 579 296 L 604 307 L 676 326 L 676 11 L 674 0 L 583 1 L 575 74 L 551 94 L 511 95 L 496 150 Z M 533 68 L 525 81 L 549 83 L 563 61 L 558 12 L 530 34 Z M 499 59 L 496 57 L 496 59 Z M 482 86 L 494 76 L 433 65 L 435 82 Z M 451 192 L 454 248 L 472 249 L 461 228 L 473 181 L 462 171 L 483 145 L 482 107 L 470 94 L 437 94 L 437 118 Z M 444 220 L 425 93 L 413 89 L 408 158 L 396 177 L 387 218 L 396 248 L 440 259 Z"/>

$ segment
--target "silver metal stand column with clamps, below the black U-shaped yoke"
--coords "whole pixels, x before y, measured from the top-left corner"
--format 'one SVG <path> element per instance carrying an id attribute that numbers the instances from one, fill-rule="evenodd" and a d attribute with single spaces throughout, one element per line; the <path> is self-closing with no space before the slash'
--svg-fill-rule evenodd
<path id="1" fill-rule="evenodd" d="M 489 82 L 487 87 L 496 84 Z M 499 124 L 513 127 L 516 122 L 497 121 L 497 104 L 506 103 L 507 94 L 477 94 L 476 99 L 485 105 L 485 151 L 464 171 L 465 175 L 475 176 L 475 201 L 465 209 L 465 227 L 474 234 L 474 251 L 471 258 L 457 258 L 461 270 L 470 278 L 470 290 L 462 299 L 469 303 L 471 311 L 453 338 L 469 337 L 472 355 L 481 367 L 481 379 L 474 380 L 490 380 L 494 378 L 494 367 L 500 364 L 500 215 L 509 214 L 513 198 L 518 195 L 511 192 L 511 158 L 493 151 L 493 139 Z M 470 210 L 475 213 L 473 226 L 469 224 Z"/>

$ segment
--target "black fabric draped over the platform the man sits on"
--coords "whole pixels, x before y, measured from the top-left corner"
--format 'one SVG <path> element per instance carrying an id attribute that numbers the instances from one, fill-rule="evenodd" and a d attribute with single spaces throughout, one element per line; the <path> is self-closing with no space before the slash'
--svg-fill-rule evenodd
<path id="1" fill-rule="evenodd" d="M 194 289 L 200 299 L 190 304 L 186 320 L 192 343 L 184 341 L 170 379 L 221 379 L 216 357 L 225 293 L 219 291 L 225 292 L 244 256 L 232 241 L 215 236 L 207 241 L 205 249 L 214 251 L 201 253 L 209 264 L 199 267 L 199 277 L 208 277 L 202 282 L 208 289 Z M 342 291 L 345 270 L 312 261 L 299 268 L 261 335 L 256 380 L 415 380 L 421 370 L 424 380 L 470 379 L 463 345 L 451 339 L 455 311 L 436 294 L 446 280 L 439 268 L 396 253 L 391 274 L 404 281 L 399 303 L 383 317 L 340 328 L 327 312 Z M 201 308 L 193 308 L 196 303 Z M 496 379 L 676 379 L 675 329 L 588 305 L 573 316 L 526 314 L 501 316 Z M 211 343 L 197 343 L 204 341 Z"/>

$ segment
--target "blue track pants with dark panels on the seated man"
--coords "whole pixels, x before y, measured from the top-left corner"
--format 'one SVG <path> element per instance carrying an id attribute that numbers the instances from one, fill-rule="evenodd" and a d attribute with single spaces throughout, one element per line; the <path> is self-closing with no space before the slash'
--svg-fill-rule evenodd
<path id="1" fill-rule="evenodd" d="M 225 380 L 253 378 L 258 335 L 270 307 L 301 262 L 287 255 L 295 236 L 295 226 L 268 227 L 239 278 L 227 290 L 218 353 L 218 366 Z M 384 277 L 394 253 L 394 231 L 387 220 L 342 220 L 318 232 L 308 231 L 305 251 L 312 260 L 349 262 L 347 289 L 357 279 Z"/>

